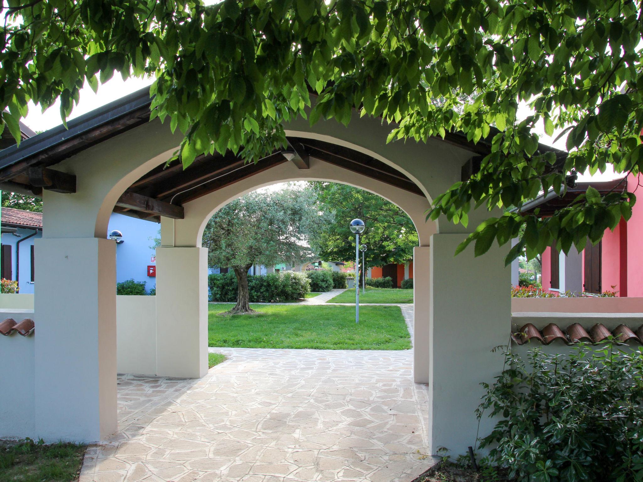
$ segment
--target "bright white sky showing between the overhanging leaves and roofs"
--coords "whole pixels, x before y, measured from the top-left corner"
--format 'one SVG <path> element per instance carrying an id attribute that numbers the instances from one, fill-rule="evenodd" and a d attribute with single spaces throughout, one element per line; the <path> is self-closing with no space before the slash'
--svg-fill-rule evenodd
<path id="1" fill-rule="evenodd" d="M 123 81 L 120 75 L 116 73 L 116 75 L 114 75 L 111 80 L 98 87 L 97 94 L 95 94 L 94 91 L 92 91 L 91 88 L 86 84 L 85 87 L 80 91 L 80 102 L 78 102 L 78 105 L 75 105 L 73 111 L 71 112 L 71 115 L 69 116 L 69 120 L 77 118 L 78 116 L 86 114 L 87 112 L 93 111 L 94 109 L 97 109 L 98 107 L 101 107 L 102 105 L 105 105 L 109 102 L 113 102 L 114 100 L 121 98 L 127 94 L 136 92 L 146 85 L 152 84 L 152 82 L 152 78 L 129 78 Z M 529 107 L 527 107 L 527 104 L 521 103 L 518 107 L 518 118 L 524 119 L 529 114 L 530 110 Z M 39 107 L 36 107 L 35 105 L 33 105 L 33 103 L 30 103 L 29 113 L 24 119 L 24 123 L 28 125 L 28 127 L 30 127 L 32 130 L 37 131 L 48 130 L 52 127 L 60 125 L 62 121 L 60 120 L 59 101 L 57 101 L 55 105 L 52 105 L 50 109 L 47 109 L 45 112 L 41 112 L 41 109 L 39 109 Z M 541 143 L 559 148 L 561 150 L 565 150 L 566 136 L 563 136 L 556 143 L 554 143 L 554 139 L 556 139 L 556 136 L 558 136 L 559 131 L 554 132 L 554 136 L 552 137 L 547 136 L 547 134 L 545 134 L 543 123 L 539 122 L 536 126 L 535 132 L 540 137 Z M 581 174 L 579 175 L 578 180 L 588 181 L 589 179 L 595 179 L 597 181 L 609 181 L 610 179 L 616 179 L 617 177 L 622 177 L 622 174 L 615 174 L 611 169 L 611 166 L 608 166 L 608 170 L 606 170 L 606 172 L 602 174 L 600 172 L 597 172 L 593 177 L 590 177 L 589 174 Z M 275 190 L 278 189 L 277 186 L 278 185 L 275 184 L 266 189 Z"/>

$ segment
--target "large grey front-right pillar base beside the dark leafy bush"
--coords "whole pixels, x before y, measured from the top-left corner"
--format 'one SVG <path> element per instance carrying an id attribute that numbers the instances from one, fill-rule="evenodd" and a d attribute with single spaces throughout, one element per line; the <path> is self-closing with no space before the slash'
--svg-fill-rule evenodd
<path id="1" fill-rule="evenodd" d="M 429 443 L 433 453 L 446 447 L 451 455 L 475 444 L 480 382 L 493 383 L 502 371 L 502 352 L 491 350 L 507 344 L 511 331 L 509 248 L 494 244 L 475 258 L 472 245 L 454 256 L 464 238 L 431 236 Z M 485 416 L 480 436 L 493 425 Z"/>

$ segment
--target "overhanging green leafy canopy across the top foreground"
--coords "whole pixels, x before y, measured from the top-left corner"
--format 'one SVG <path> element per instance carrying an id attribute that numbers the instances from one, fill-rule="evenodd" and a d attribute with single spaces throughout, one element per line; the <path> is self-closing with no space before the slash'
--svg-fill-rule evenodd
<path id="1" fill-rule="evenodd" d="M 257 161 L 296 116 L 347 125 L 354 109 L 392 123 L 388 141 L 489 139 L 480 171 L 431 211 L 465 225 L 471 206 L 520 208 L 575 172 L 643 163 L 640 0 L 9 0 L 2 11 L 0 107 L 15 138 L 28 100 L 60 98 L 68 116 L 85 82 L 118 71 L 156 76 L 151 117 L 185 133 L 186 166 L 226 149 Z M 562 130 L 568 156 L 539 149 L 538 124 Z M 467 242 L 479 255 L 526 226 L 507 261 L 554 238 L 582 249 L 633 202 L 589 188 L 546 219 L 491 217 Z"/>

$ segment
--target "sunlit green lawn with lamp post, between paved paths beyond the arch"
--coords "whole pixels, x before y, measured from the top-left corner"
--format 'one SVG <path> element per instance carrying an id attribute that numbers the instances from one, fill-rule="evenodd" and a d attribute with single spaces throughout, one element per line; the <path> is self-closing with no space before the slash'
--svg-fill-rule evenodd
<path id="1" fill-rule="evenodd" d="M 208 344 L 237 348 L 406 350 L 410 337 L 399 307 L 251 305 L 256 315 L 221 316 L 232 304 L 210 305 Z"/>

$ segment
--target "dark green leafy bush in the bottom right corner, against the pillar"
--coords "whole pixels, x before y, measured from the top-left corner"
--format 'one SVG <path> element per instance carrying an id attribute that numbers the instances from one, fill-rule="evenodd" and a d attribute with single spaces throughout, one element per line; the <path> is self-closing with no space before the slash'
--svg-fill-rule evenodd
<path id="1" fill-rule="evenodd" d="M 525 359 L 527 361 L 525 361 Z M 509 350 L 476 414 L 500 416 L 480 447 L 518 481 L 643 479 L 643 352 L 579 344 L 570 355 Z"/>

